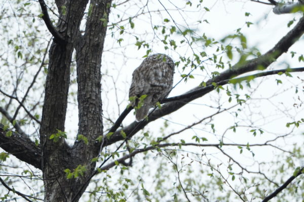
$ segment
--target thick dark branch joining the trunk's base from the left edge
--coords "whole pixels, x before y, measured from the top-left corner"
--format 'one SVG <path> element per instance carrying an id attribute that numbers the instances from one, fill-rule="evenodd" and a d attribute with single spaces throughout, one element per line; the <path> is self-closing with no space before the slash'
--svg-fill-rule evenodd
<path id="1" fill-rule="evenodd" d="M 41 169 L 41 148 L 36 146 L 28 137 L 12 132 L 12 136 L 6 136 L 0 124 L 0 147 L 17 159 Z"/>

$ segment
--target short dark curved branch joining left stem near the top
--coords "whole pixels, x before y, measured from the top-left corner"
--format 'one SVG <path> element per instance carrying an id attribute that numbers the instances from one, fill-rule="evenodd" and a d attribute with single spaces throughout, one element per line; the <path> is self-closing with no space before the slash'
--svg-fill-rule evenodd
<path id="1" fill-rule="evenodd" d="M 39 0 L 39 4 L 42 10 L 42 19 L 45 21 L 46 26 L 48 30 L 51 32 L 51 34 L 54 36 L 54 40 L 57 41 L 58 43 L 64 45 L 66 44 L 66 41 L 64 40 L 63 36 L 59 34 L 59 32 L 56 30 L 56 28 L 53 26 L 53 23 L 50 19 L 47 5 L 44 0 Z"/>

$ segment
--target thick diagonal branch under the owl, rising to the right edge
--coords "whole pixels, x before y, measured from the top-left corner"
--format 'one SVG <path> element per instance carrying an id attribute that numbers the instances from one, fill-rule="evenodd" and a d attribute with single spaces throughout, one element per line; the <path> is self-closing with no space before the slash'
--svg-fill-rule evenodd
<path id="1" fill-rule="evenodd" d="M 211 85 L 212 82 L 220 82 L 224 81 L 226 79 L 231 79 L 234 77 L 237 77 L 241 74 L 251 72 L 256 70 L 258 67 L 264 67 L 267 68 L 270 64 L 272 64 L 274 61 L 276 61 L 277 58 L 279 58 L 283 53 L 288 51 L 288 48 L 295 43 L 295 41 L 298 40 L 298 38 L 303 34 L 304 32 L 304 17 L 302 17 L 299 22 L 295 25 L 295 27 L 290 30 L 284 37 L 281 38 L 281 40 L 267 53 L 263 54 L 262 56 L 248 60 L 244 62 L 243 64 L 236 64 L 231 69 L 226 70 L 220 75 L 216 76 L 213 79 L 209 79 L 206 84 L 207 86 Z M 187 93 L 191 93 L 193 91 L 199 90 L 202 87 L 196 87 Z M 138 132 L 140 129 L 142 129 L 145 125 L 147 125 L 149 122 L 154 121 L 160 117 L 163 117 L 167 114 L 170 114 L 172 112 L 175 112 L 179 108 L 183 107 L 187 103 L 191 102 L 192 100 L 201 97 L 208 92 L 212 91 L 213 88 L 210 87 L 208 90 L 204 90 L 204 92 L 196 93 L 195 95 L 184 98 L 178 101 L 166 103 L 162 106 L 161 109 L 155 110 L 153 113 L 150 113 L 148 117 L 148 121 L 144 120 L 141 122 L 133 122 L 129 126 L 124 127 L 122 130 L 128 135 L 128 137 L 133 136 L 136 132 Z M 115 132 L 109 141 L 106 143 L 106 145 L 112 144 L 114 142 L 117 142 L 119 140 L 123 140 L 124 138 L 120 134 L 121 131 Z"/>

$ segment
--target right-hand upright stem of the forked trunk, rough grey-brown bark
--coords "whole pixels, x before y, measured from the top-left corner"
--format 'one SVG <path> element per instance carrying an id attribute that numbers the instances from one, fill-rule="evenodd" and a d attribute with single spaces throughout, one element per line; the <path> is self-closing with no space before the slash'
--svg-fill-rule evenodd
<path id="1" fill-rule="evenodd" d="M 100 72 L 111 0 L 93 0 L 90 3 L 92 13 L 86 22 L 84 35 L 78 35 L 75 50 L 79 110 L 78 134 L 86 136 L 91 141 L 88 144 L 75 141 L 73 146 L 75 156 L 86 156 L 83 160 L 89 162 L 98 156 L 101 143 L 96 143 L 95 139 L 103 131 Z"/>

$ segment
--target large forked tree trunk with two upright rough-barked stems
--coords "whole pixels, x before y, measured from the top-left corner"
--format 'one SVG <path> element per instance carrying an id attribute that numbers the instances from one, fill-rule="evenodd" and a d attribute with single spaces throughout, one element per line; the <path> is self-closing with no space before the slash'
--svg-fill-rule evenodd
<path id="1" fill-rule="evenodd" d="M 102 134 L 103 129 L 100 67 L 111 0 L 90 2 L 90 15 L 85 34 L 82 35 L 80 23 L 87 4 L 87 0 L 56 2 L 61 12 L 57 31 L 66 43 L 54 40 L 49 52 L 40 129 L 45 201 L 78 201 L 95 168 L 95 163 L 91 160 L 99 153 L 100 143 L 95 139 Z M 62 6 L 65 6 L 65 11 L 61 9 Z M 101 21 L 102 18 L 106 21 Z M 70 63 L 74 49 L 77 53 L 78 134 L 86 136 L 89 142 L 85 144 L 84 141 L 75 141 L 70 148 L 63 137 L 55 142 L 50 136 L 57 133 L 57 130 L 64 131 Z M 64 170 L 74 171 L 79 165 L 85 166 L 84 175 L 67 179 Z"/>

